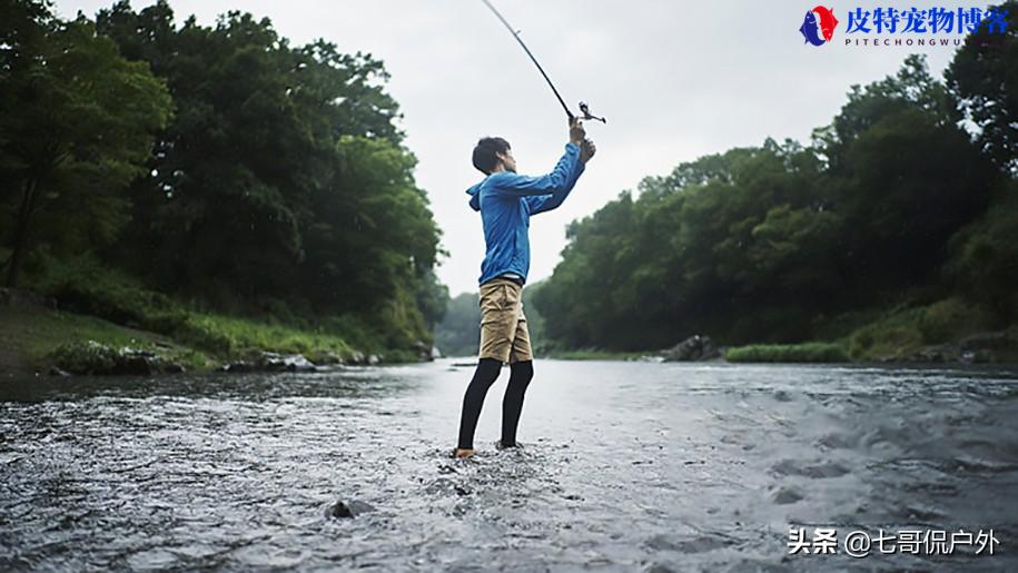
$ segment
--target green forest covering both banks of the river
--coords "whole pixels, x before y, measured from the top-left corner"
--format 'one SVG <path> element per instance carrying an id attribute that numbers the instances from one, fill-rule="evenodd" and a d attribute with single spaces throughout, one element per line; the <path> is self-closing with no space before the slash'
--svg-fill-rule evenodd
<path id="1" fill-rule="evenodd" d="M 527 287 L 535 348 L 876 359 L 1018 333 L 1018 2 L 999 8 L 1006 31 L 966 37 L 943 79 L 908 56 L 808 142 L 681 162 L 574 220 Z M 382 61 L 165 0 L 72 20 L 6 0 L 0 22 L 8 289 L 223 356 L 475 346 Z"/>

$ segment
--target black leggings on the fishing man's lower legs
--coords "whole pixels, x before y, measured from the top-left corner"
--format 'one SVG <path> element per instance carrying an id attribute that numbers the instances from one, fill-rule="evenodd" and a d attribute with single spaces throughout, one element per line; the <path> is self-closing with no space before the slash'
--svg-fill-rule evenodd
<path id="1" fill-rule="evenodd" d="M 523 412 L 523 395 L 526 386 L 534 377 L 534 360 L 517 362 L 510 365 L 508 387 L 502 401 L 502 445 L 512 447 L 516 445 L 516 426 L 520 423 L 520 413 Z M 477 418 L 481 417 L 481 407 L 487 389 L 498 378 L 502 362 L 495 358 L 481 358 L 471 385 L 463 396 L 463 415 L 459 417 L 459 448 L 474 448 L 474 431 L 477 428 Z"/>

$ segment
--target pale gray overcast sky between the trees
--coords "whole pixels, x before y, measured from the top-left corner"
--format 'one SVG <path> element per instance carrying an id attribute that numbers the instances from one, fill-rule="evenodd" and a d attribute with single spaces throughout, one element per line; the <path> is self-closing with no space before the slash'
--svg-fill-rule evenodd
<path id="1" fill-rule="evenodd" d="M 92 16 L 112 1 L 56 3 L 58 13 L 73 17 L 78 10 Z M 852 83 L 892 73 L 911 51 L 929 55 L 939 75 L 956 50 L 844 46 L 847 12 L 895 6 L 887 1 L 832 3 L 841 23 L 832 42 L 819 48 L 805 45 L 798 31 L 814 2 L 495 4 L 521 30 L 566 102 L 575 109 L 583 99 L 609 120 L 589 124 L 597 156 L 570 198 L 531 220 L 528 283 L 551 275 L 569 221 L 635 189 L 643 177 L 665 175 L 702 155 L 760 145 L 768 136 L 805 142 L 814 127 L 830 122 Z M 211 24 L 219 13 L 244 10 L 270 18 L 294 43 L 325 38 L 342 51 L 369 52 L 385 62 L 388 90 L 405 115 L 406 145 L 419 160 L 417 182 L 431 197 L 449 251 L 438 276 L 453 296 L 476 292 L 484 257 L 481 217 L 467 207 L 465 194 L 481 179 L 470 162 L 476 140 L 505 137 L 520 172 L 527 175 L 554 167 L 567 140 L 565 116 L 551 90 L 480 0 L 171 0 L 170 6 L 178 24 L 192 13 Z"/>

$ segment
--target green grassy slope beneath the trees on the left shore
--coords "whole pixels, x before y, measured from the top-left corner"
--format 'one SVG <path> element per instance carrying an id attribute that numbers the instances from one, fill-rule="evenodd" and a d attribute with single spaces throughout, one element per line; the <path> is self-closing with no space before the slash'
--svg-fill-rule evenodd
<path id="1" fill-rule="evenodd" d="M 370 355 L 387 363 L 418 359 L 414 348 L 388 347 L 386 340 L 398 337 L 379 333 L 364 318 L 312 322 L 286 312 L 211 312 L 88 263 L 30 276 L 26 283 L 28 288 L 18 292 L 21 303 L 0 306 L 3 372 L 46 372 L 58 349 L 88 340 L 152 352 L 191 372 L 260 352 L 303 354 L 312 362 L 359 362 Z M 55 298 L 60 310 L 24 303 L 30 295 Z"/>

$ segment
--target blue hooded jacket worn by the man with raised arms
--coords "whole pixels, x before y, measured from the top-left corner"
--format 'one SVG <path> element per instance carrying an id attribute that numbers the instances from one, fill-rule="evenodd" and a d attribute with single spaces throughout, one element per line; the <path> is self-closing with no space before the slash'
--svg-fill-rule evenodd
<path id="1" fill-rule="evenodd" d="M 498 171 L 466 190 L 471 208 L 481 211 L 484 223 L 486 251 L 481 264 L 481 284 L 503 273 L 515 273 L 526 281 L 531 267 L 527 236 L 531 215 L 562 205 L 584 167 L 580 146 L 569 142 L 559 165 L 547 175 L 530 177 Z"/>

